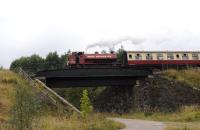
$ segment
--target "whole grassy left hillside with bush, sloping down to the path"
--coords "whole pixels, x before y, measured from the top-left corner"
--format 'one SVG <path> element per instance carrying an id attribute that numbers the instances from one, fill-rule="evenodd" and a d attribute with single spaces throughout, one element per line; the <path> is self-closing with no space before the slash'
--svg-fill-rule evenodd
<path id="1" fill-rule="evenodd" d="M 0 70 L 0 130 L 117 130 L 123 127 L 106 120 L 102 114 L 83 117 L 62 108 L 53 106 L 19 75 Z M 22 125 L 16 126 L 19 124 Z"/>

